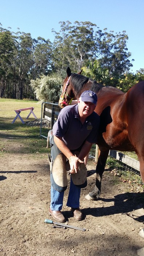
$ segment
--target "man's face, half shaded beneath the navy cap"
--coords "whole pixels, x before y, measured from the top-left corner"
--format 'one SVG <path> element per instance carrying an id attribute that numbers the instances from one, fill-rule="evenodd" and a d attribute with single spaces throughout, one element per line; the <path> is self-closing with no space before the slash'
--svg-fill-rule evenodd
<path id="1" fill-rule="evenodd" d="M 78 109 L 79 109 L 79 115 L 80 117 L 87 117 L 92 114 L 92 112 L 95 110 L 96 104 L 93 104 L 89 101 L 81 101 L 81 99 L 78 100 Z"/>

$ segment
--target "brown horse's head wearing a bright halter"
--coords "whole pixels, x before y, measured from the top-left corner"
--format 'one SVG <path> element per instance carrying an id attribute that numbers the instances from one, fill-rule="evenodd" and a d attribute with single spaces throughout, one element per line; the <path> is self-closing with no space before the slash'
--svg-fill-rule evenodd
<path id="1" fill-rule="evenodd" d="M 82 70 L 78 73 L 81 74 Z M 67 76 L 64 79 L 63 82 L 63 89 L 62 94 L 59 99 L 59 107 L 64 108 L 65 106 L 68 106 L 71 104 L 72 100 L 76 99 L 76 95 L 73 91 L 72 84 L 71 84 L 71 69 L 67 68 Z"/>

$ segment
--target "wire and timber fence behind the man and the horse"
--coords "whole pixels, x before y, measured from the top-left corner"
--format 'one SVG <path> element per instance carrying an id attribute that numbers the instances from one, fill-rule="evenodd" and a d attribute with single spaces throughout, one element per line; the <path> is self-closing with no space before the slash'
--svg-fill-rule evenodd
<path id="1" fill-rule="evenodd" d="M 47 138 L 48 131 L 52 129 L 53 124 L 56 122 L 60 112 L 58 103 L 43 102 L 41 105 L 41 124 L 40 124 L 40 136 Z M 92 145 L 89 152 L 89 158 L 96 158 L 96 144 Z M 121 152 L 115 150 L 109 151 L 107 163 L 110 168 L 115 169 L 117 172 L 123 173 L 127 179 L 131 179 L 135 182 L 143 184 L 140 177 L 139 161 L 124 155 Z"/>

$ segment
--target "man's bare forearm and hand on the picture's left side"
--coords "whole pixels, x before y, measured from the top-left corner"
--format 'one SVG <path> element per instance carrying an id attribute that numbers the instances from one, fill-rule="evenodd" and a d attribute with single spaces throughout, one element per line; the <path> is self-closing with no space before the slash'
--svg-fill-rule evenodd
<path id="1" fill-rule="evenodd" d="M 72 152 L 69 150 L 67 145 L 64 143 L 63 139 L 61 137 L 54 136 L 54 141 L 57 147 L 60 149 L 60 151 L 67 157 L 70 164 L 70 172 L 71 173 L 77 173 L 77 169 L 79 167 L 78 163 L 83 163 L 78 157 L 74 156 Z"/>

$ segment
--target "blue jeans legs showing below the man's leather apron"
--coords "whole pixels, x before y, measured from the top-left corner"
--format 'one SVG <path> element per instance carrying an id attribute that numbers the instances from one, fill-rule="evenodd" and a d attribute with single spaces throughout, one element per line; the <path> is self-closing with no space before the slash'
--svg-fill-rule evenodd
<path id="1" fill-rule="evenodd" d="M 68 195 L 68 200 L 67 200 L 68 207 L 78 208 L 80 206 L 80 191 L 81 191 L 81 188 L 79 188 L 75 184 L 73 184 L 72 178 L 71 178 L 69 195 Z M 64 198 L 64 191 L 62 191 L 62 192 L 56 191 L 51 186 L 50 208 L 52 211 L 61 211 L 61 209 L 63 207 L 63 198 Z"/>

